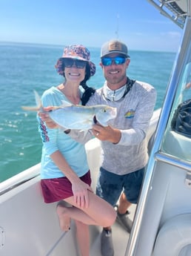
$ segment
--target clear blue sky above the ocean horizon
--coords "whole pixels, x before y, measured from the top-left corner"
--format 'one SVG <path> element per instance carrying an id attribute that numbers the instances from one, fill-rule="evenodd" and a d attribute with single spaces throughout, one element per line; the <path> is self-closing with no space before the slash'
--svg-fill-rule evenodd
<path id="1" fill-rule="evenodd" d="M 147 0 L 0 0 L 0 42 L 176 52 L 181 34 Z"/>

